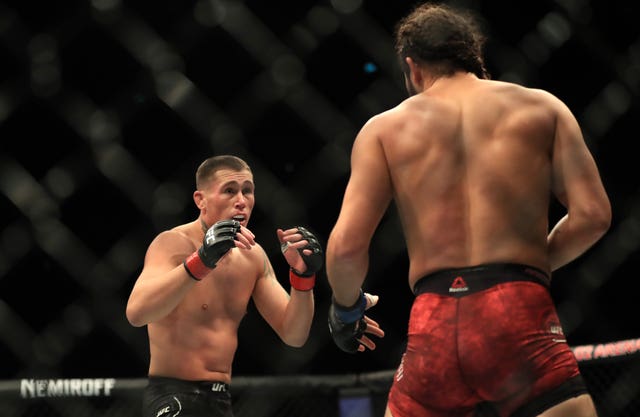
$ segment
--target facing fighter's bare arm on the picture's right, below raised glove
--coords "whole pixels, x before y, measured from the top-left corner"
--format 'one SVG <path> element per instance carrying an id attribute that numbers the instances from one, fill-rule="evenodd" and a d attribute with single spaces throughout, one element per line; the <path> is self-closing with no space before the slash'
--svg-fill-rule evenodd
<path id="1" fill-rule="evenodd" d="M 307 341 L 313 321 L 313 291 L 291 288 L 291 293 L 287 294 L 278 282 L 267 254 L 261 252 L 262 275 L 253 293 L 256 308 L 284 343 L 300 347 Z"/>

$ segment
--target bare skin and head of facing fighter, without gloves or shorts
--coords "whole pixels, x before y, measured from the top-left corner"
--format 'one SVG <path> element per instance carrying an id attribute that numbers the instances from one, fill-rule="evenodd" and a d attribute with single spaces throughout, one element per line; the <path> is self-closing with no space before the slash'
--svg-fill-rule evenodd
<path id="1" fill-rule="evenodd" d="M 148 325 L 149 375 L 229 383 L 249 299 L 285 343 L 302 346 L 313 318 L 313 292 L 292 288 L 289 295 L 246 228 L 255 203 L 250 172 L 218 171 L 194 201 L 198 219 L 160 233 L 149 246 L 127 317 L 135 326 Z M 202 245 L 207 227 L 231 218 L 241 219 L 236 247 L 195 281 L 183 261 Z M 306 244 L 297 229 L 278 230 L 278 238 L 296 249 Z M 297 270 L 306 269 L 298 251 L 285 257 Z"/>

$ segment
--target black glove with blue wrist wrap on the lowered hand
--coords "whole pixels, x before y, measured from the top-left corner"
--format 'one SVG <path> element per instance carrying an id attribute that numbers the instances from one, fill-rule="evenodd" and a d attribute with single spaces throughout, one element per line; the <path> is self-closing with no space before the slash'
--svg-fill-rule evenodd
<path id="1" fill-rule="evenodd" d="M 336 303 L 331 297 L 329 307 L 329 331 L 335 344 L 347 353 L 356 353 L 362 337 L 367 329 L 364 320 L 364 311 L 367 308 L 367 299 L 360 290 L 360 298 L 351 307 L 344 307 Z"/>

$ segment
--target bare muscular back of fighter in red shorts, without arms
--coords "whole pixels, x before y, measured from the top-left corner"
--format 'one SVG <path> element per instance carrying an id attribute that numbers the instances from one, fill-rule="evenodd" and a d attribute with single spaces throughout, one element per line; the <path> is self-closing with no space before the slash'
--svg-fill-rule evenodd
<path id="1" fill-rule="evenodd" d="M 490 262 L 549 269 L 550 95 L 463 74 L 382 119 L 411 285 L 437 269 Z"/>

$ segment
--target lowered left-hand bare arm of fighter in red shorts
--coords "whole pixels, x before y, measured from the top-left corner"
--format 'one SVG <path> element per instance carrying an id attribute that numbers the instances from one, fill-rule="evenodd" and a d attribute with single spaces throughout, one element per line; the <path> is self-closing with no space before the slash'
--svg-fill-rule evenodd
<path id="1" fill-rule="evenodd" d="M 380 119 L 362 128 L 351 152 L 351 176 L 327 243 L 327 276 L 338 304 L 353 305 L 369 267 L 369 245 L 392 198 L 391 179 L 377 136 Z"/>

